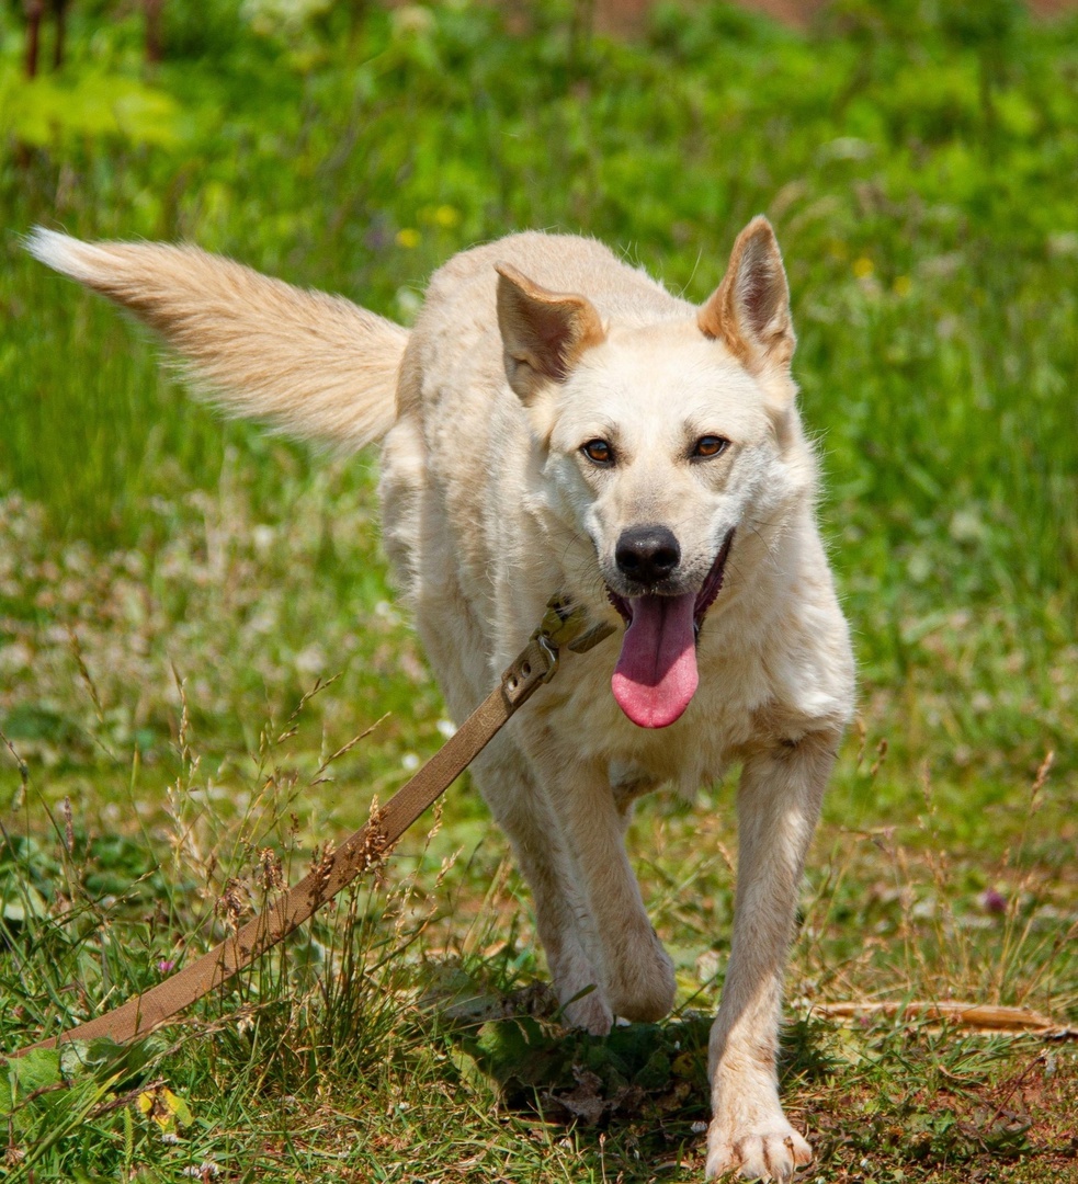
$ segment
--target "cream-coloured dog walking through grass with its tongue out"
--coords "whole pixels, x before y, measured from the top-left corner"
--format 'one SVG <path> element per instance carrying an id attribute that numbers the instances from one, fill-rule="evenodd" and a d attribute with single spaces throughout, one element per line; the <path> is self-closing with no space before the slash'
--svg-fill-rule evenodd
<path id="1" fill-rule="evenodd" d="M 605 1032 L 674 998 L 623 845 L 634 799 L 742 764 L 707 1173 L 789 1179 L 811 1152 L 778 1101 L 782 978 L 853 662 L 768 221 L 701 308 L 595 242 L 526 233 L 443 266 L 411 333 L 192 247 L 38 231 L 30 249 L 160 332 L 225 406 L 349 448 L 384 438 L 386 548 L 457 721 L 552 593 L 646 622 L 620 661 L 607 642 L 564 662 L 475 778 L 569 1018 Z"/>

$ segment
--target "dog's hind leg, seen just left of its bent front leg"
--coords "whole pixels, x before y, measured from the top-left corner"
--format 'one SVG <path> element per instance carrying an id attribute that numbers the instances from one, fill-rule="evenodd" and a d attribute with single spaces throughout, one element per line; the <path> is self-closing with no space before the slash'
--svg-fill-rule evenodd
<path id="1" fill-rule="evenodd" d="M 566 1019 L 593 1035 L 605 1035 L 614 1014 L 596 957 L 595 924 L 543 787 L 509 738 L 499 738 L 473 773 L 531 889 L 539 939 Z"/>

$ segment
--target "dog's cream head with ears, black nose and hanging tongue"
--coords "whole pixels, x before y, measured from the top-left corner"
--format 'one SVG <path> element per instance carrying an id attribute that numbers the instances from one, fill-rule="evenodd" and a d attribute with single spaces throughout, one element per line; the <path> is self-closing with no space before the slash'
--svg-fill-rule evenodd
<path id="1" fill-rule="evenodd" d="M 775 234 L 764 218 L 742 231 L 695 318 L 604 323 L 585 296 L 499 272 L 506 373 L 551 509 L 590 539 L 628 625 L 615 697 L 665 727 L 697 689 L 695 639 L 736 538 L 770 532 L 811 480 Z"/>

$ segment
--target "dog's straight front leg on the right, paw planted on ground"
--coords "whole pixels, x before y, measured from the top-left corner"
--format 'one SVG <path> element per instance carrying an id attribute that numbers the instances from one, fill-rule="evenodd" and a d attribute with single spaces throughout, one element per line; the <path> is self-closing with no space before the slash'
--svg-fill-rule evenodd
<path id="1" fill-rule="evenodd" d="M 797 888 L 838 734 L 749 757 L 738 790 L 738 880 L 730 965 L 711 1030 L 707 1178 L 789 1180 L 813 1158 L 778 1101 L 775 1057 Z"/>

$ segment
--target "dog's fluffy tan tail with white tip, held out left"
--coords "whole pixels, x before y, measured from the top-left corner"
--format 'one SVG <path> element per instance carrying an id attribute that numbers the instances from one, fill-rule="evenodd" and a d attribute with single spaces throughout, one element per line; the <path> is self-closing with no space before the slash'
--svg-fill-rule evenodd
<path id="1" fill-rule="evenodd" d="M 38 227 L 27 250 L 130 309 L 226 411 L 355 449 L 393 424 L 408 330 L 193 246 L 83 243 Z"/>

